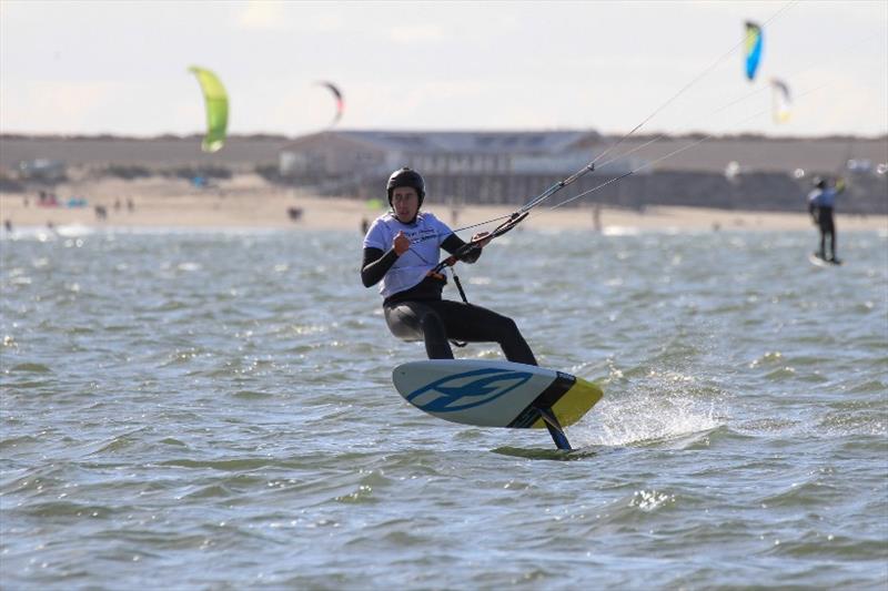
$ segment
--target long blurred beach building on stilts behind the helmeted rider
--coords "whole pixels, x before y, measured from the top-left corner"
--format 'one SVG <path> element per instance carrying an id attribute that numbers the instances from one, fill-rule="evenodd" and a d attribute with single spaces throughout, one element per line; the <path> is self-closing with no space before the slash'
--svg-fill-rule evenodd
<path id="1" fill-rule="evenodd" d="M 283 147 L 279 173 L 321 194 L 369 197 L 377 195 L 366 195 L 367 190 L 383 186 L 393 170 L 410 166 L 423 174 L 436 198 L 514 203 L 581 170 L 606 147 L 594 131 L 327 131 Z M 645 162 L 630 155 L 605 155 L 602 162 L 607 164 L 601 172 L 583 180 L 589 186 L 633 170 L 646 172 Z"/>

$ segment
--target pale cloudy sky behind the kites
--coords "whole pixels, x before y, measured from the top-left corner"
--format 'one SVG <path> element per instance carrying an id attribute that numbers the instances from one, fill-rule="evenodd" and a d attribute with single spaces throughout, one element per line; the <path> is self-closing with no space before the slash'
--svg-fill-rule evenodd
<path id="1" fill-rule="evenodd" d="M 744 21 L 764 26 L 756 80 Z M 888 1 L 0 0 L 0 132 L 202 133 L 188 67 L 229 132 L 888 132 Z M 791 116 L 771 116 L 774 78 Z"/>

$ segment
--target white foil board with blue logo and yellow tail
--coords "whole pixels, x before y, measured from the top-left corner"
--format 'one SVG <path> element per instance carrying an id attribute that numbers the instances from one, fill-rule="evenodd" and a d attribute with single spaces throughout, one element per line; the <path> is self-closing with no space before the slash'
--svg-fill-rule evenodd
<path id="1" fill-rule="evenodd" d="M 563 437 L 562 427 L 602 398 L 601 388 L 582 378 L 511 361 L 411 361 L 395 367 L 392 380 L 405 400 L 430 415 L 480 427 L 548 428 L 559 448 L 553 429 Z"/>

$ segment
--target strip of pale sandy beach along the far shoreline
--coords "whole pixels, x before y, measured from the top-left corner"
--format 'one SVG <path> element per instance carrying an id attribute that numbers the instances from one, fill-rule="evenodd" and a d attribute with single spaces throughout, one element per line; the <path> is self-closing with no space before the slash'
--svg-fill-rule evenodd
<path id="1" fill-rule="evenodd" d="M 382 213 L 366 202 L 345 197 L 320 197 L 300 190 L 266 183 L 255 175 L 240 175 L 213 186 L 199 188 L 181 180 L 99 180 L 60 185 L 54 191 L 59 205 L 39 204 L 36 193 L 0 194 L 0 217 L 14 227 L 64 225 L 108 227 L 259 227 L 355 230 Z M 384 196 L 384 195 L 381 195 Z M 69 206 L 69 200 L 85 200 L 84 206 Z M 132 204 L 132 208 L 129 204 Z M 594 230 L 594 204 L 534 210 L 526 227 L 547 230 Z M 800 204 L 798 213 L 744 212 L 698 207 L 648 207 L 644 212 L 603 207 L 598 225 L 608 230 L 811 230 Z M 95 207 L 103 206 L 100 218 Z M 434 212 L 454 228 L 483 222 L 512 211 L 509 206 L 461 205 L 452 207 L 427 200 Z M 291 216 L 291 211 L 297 212 Z M 840 231 L 888 230 L 888 216 L 842 215 Z"/>

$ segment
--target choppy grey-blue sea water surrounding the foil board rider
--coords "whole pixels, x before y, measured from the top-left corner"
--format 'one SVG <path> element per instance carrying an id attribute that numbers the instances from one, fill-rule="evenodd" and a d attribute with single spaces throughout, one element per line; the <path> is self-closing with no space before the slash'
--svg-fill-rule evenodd
<path id="1" fill-rule="evenodd" d="M 0 587 L 884 591 L 888 228 L 839 238 L 528 230 L 462 266 L 604 388 L 564 454 L 395 393 L 424 349 L 356 230 L 6 233 Z"/>

